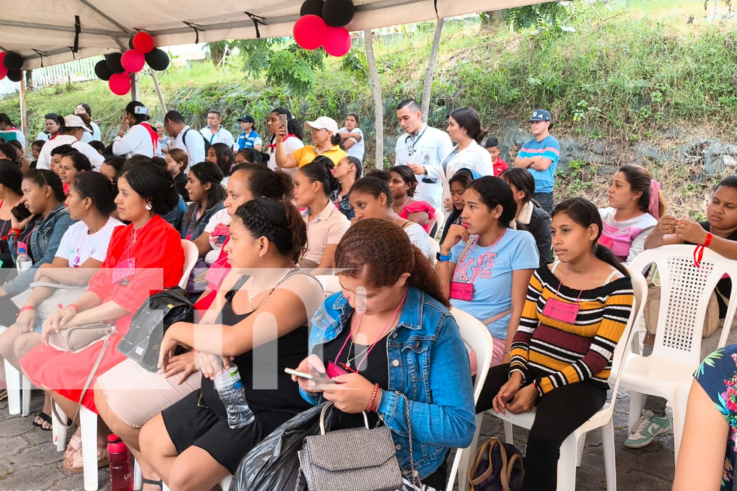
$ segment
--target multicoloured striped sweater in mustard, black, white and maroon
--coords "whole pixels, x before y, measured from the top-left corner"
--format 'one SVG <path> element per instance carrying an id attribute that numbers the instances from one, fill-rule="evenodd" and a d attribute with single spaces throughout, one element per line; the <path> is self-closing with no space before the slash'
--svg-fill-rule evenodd
<path id="1" fill-rule="evenodd" d="M 576 303 L 579 293 L 580 308 L 575 323 L 542 314 L 549 298 Z M 540 266 L 530 279 L 520 327 L 511 345 L 510 373 L 518 371 L 525 380 L 531 369 L 547 374 L 535 380 L 539 395 L 585 380 L 608 387 L 612 355 L 626 327 L 634 298 L 629 278 L 581 292 L 561 286 L 548 266 Z"/>

